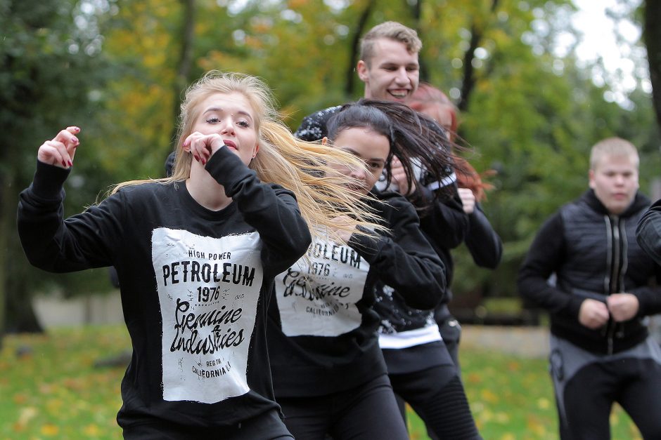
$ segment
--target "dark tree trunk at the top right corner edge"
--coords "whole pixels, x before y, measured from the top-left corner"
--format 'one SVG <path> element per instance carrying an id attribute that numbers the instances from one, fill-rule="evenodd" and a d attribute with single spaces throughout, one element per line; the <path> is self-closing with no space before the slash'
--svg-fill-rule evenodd
<path id="1" fill-rule="evenodd" d="M 652 103 L 657 128 L 661 131 L 661 1 L 646 0 L 643 30 L 652 82 Z"/>

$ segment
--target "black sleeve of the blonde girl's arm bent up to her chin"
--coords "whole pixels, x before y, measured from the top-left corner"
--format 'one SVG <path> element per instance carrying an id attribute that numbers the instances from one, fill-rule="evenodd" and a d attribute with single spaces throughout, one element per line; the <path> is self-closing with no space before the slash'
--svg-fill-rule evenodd
<path id="1" fill-rule="evenodd" d="M 257 229 L 265 245 L 262 258 L 276 273 L 286 270 L 307 251 L 312 236 L 293 192 L 260 182 L 255 171 L 225 147 L 211 156 L 205 168 L 224 186 L 225 194 L 236 202 L 245 221 Z"/>

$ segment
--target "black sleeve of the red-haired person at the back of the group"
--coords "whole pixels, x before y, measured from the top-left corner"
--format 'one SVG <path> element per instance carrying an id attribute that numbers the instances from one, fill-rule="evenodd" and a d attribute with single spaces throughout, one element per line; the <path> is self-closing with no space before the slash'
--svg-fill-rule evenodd
<path id="1" fill-rule="evenodd" d="M 468 225 L 464 242 L 473 261 L 480 267 L 496 269 L 503 256 L 503 242 L 484 215 L 480 204 L 475 204 L 475 211 L 468 215 Z"/>

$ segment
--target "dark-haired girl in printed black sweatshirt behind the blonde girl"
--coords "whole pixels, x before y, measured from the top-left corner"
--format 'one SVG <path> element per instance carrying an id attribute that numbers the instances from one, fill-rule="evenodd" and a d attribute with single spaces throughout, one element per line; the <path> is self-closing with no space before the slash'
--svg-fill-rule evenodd
<path id="1" fill-rule="evenodd" d="M 374 288 L 385 283 L 412 307 L 431 309 L 444 295 L 444 268 L 415 208 L 374 185 L 394 155 L 409 180 L 413 157 L 437 173 L 450 159 L 414 142 L 411 133 L 422 129 L 416 114 L 404 105 L 399 111 L 411 116 L 408 123 L 395 123 L 375 101 L 346 105 L 328 121 L 323 139 L 366 164 L 366 170 L 336 170 L 349 178 L 349 189 L 364 194 L 381 228 L 373 236 L 340 232 L 338 240 L 313 241 L 304 258 L 276 277 L 269 355 L 276 400 L 297 439 L 408 439 L 378 345 Z"/>

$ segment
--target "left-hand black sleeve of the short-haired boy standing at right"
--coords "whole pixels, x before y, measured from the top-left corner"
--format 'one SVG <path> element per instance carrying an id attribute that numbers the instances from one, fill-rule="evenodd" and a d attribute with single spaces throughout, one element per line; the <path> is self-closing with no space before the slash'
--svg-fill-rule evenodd
<path id="1" fill-rule="evenodd" d="M 578 319 L 583 299 L 552 286 L 548 278 L 560 267 L 564 253 L 563 220 L 556 213 L 544 222 L 535 236 L 518 274 L 523 298 L 553 314 Z"/>

